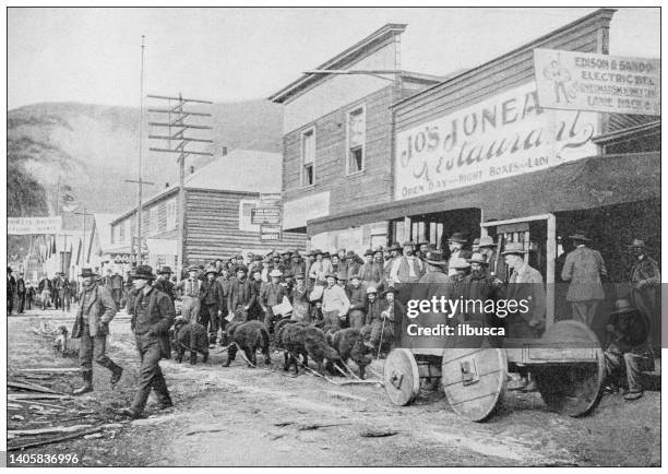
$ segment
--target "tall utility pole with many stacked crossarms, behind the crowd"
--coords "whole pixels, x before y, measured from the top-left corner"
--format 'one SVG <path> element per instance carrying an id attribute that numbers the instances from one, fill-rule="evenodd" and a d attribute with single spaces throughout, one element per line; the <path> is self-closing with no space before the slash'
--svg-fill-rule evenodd
<path id="1" fill-rule="evenodd" d="M 167 147 L 150 147 L 153 152 L 176 153 L 178 154 L 177 163 L 179 164 L 179 211 L 178 211 L 178 240 L 177 240 L 177 277 L 180 280 L 181 269 L 183 268 L 183 251 L 186 241 L 186 157 L 188 155 L 213 156 L 212 153 L 186 150 L 186 145 L 191 142 L 195 143 L 213 143 L 213 140 L 200 139 L 193 137 L 184 137 L 186 130 L 212 130 L 212 127 L 187 123 L 189 117 L 211 117 L 211 114 L 198 112 L 193 110 L 184 110 L 186 104 L 213 104 L 210 100 L 200 100 L 194 98 L 183 98 L 181 93 L 178 97 L 164 95 L 148 95 L 150 98 L 167 100 L 167 108 L 148 109 L 150 112 L 166 115 L 166 120 L 160 122 L 148 122 L 153 127 L 167 128 L 167 134 L 155 135 L 150 134 L 153 140 L 167 140 Z M 172 105 L 176 102 L 176 105 Z M 172 145 L 172 142 L 176 142 Z"/>

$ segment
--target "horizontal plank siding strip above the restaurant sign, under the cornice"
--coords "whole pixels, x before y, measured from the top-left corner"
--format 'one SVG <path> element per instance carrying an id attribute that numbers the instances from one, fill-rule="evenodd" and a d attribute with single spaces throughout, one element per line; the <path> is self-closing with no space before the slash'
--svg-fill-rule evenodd
<path id="1" fill-rule="evenodd" d="M 534 80 L 534 49 L 607 52 L 612 13 L 600 11 L 395 106 L 396 131 L 443 117 Z"/>

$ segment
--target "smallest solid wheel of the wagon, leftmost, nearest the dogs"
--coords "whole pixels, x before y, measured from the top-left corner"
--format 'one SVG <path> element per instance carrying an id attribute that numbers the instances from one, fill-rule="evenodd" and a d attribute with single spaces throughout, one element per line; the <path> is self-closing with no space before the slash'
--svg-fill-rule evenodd
<path id="1" fill-rule="evenodd" d="M 420 391 L 420 376 L 415 356 L 407 348 L 395 348 L 383 366 L 385 393 L 395 405 L 411 403 Z"/>

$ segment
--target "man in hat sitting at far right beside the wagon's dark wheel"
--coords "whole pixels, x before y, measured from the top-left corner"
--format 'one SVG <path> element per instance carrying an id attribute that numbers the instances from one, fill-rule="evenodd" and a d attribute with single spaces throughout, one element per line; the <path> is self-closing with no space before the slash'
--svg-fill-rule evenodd
<path id="1" fill-rule="evenodd" d="M 615 301 L 608 325 L 609 345 L 604 355 L 608 380 L 619 379 L 625 372 L 628 401 L 643 396 L 641 374 L 654 370 L 654 354 L 649 344 L 651 322 L 628 299 Z M 616 380 L 612 380 L 617 384 Z"/>

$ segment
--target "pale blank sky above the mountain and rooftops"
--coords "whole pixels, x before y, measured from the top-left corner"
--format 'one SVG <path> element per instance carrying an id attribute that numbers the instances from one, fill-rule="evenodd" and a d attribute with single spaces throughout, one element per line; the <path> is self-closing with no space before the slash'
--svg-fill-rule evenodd
<path id="1" fill-rule="evenodd" d="M 406 23 L 402 69 L 481 64 L 592 8 L 9 8 L 8 108 L 40 102 L 139 106 L 145 94 L 265 98 L 385 23 Z M 658 58 L 659 9 L 618 9 L 610 54 Z"/>

